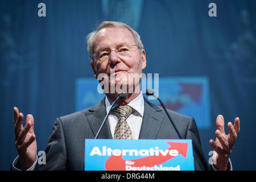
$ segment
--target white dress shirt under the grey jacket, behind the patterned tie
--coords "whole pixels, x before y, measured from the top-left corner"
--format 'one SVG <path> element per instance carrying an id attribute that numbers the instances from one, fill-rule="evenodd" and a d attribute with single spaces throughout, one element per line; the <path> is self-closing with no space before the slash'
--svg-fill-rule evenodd
<path id="1" fill-rule="evenodd" d="M 105 104 L 106 104 L 106 113 L 110 110 L 110 106 L 112 105 L 113 101 L 111 101 L 108 97 L 105 97 Z M 129 115 L 126 119 L 128 125 L 131 128 L 131 133 L 133 134 L 133 139 L 139 139 L 139 133 L 141 132 L 141 125 L 142 119 L 144 114 L 144 98 L 141 94 L 138 97 L 134 98 L 128 106 L 133 107 L 133 112 Z M 114 107 L 118 106 L 117 104 Z M 114 108 L 113 107 L 113 108 Z M 109 114 L 109 127 L 112 134 L 114 136 L 115 126 L 117 125 L 118 117 L 113 113 L 113 111 Z"/>

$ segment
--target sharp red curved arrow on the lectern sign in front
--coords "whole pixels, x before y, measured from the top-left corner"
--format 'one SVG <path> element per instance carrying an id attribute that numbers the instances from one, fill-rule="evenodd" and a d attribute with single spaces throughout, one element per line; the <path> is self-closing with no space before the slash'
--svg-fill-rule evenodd
<path id="1" fill-rule="evenodd" d="M 188 150 L 188 143 L 181 143 L 181 142 L 167 142 L 170 144 L 170 148 L 167 148 L 164 150 L 162 153 L 167 154 L 163 155 L 161 152 L 159 152 L 159 155 L 153 155 L 153 156 L 147 156 L 145 158 L 140 158 L 140 159 L 133 159 L 129 160 L 130 162 L 133 163 L 133 167 L 153 167 L 157 166 L 159 164 L 162 164 L 164 162 L 167 162 L 167 160 L 170 160 L 172 158 L 175 158 L 175 156 L 169 155 L 168 152 L 170 150 L 177 150 L 179 154 L 183 155 L 184 158 L 187 157 L 187 150 Z M 168 150 L 168 151 L 167 151 Z M 126 160 L 122 159 L 122 155 L 120 156 L 110 156 L 105 163 L 105 168 L 106 171 L 125 171 L 125 164 Z"/>

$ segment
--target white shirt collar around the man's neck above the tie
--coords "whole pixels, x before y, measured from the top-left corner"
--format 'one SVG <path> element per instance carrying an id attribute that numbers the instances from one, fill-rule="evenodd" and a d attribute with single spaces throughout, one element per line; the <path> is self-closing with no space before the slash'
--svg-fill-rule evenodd
<path id="1" fill-rule="evenodd" d="M 112 103 L 113 103 L 113 101 L 110 100 L 106 96 L 105 97 L 106 113 L 108 113 L 108 111 L 110 110 L 110 106 L 112 105 Z M 133 109 L 135 109 L 141 115 L 141 117 L 143 117 L 143 113 L 144 113 L 144 98 L 143 98 L 142 92 L 139 94 L 139 96 L 134 98 L 134 100 L 129 102 L 127 105 L 133 107 Z M 114 107 L 116 107 L 116 106 L 118 106 L 118 104 L 114 104 Z"/>

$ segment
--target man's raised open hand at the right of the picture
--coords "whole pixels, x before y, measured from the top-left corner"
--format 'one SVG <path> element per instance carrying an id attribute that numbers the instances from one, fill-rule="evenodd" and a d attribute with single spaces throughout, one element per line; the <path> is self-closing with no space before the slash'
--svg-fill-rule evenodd
<path id="1" fill-rule="evenodd" d="M 225 134 L 224 125 L 223 116 L 218 115 L 216 119 L 217 130 L 215 131 L 217 138 L 215 142 L 213 139 L 209 141 L 210 146 L 214 150 L 212 157 L 213 166 L 218 170 L 225 170 L 228 168 L 229 156 L 240 131 L 240 119 L 238 117 L 234 119 L 234 125 L 232 125 L 232 122 L 228 122 L 228 135 Z"/>

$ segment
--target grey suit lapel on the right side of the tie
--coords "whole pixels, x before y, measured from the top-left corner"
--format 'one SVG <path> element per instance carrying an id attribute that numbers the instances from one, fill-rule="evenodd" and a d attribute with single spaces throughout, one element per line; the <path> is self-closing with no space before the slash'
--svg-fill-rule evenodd
<path id="1" fill-rule="evenodd" d="M 144 98 L 144 114 L 139 139 L 155 139 L 159 133 L 164 115 L 162 109 Z"/>

